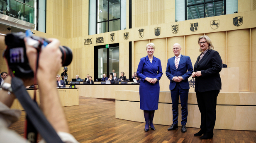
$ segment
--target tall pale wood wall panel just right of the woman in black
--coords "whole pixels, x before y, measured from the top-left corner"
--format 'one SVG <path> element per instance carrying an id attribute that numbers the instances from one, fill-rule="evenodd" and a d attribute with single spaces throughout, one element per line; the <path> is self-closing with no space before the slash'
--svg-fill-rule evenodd
<path id="1" fill-rule="evenodd" d="M 239 91 L 249 91 L 249 29 L 227 32 L 227 65 L 239 67 Z"/>

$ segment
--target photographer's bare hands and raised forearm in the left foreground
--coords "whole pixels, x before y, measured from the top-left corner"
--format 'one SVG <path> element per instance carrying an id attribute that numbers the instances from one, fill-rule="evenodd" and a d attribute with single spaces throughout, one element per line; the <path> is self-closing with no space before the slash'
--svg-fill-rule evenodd
<path id="1" fill-rule="evenodd" d="M 51 43 L 41 50 L 37 70 L 37 81 L 40 88 L 40 107 L 56 131 L 69 133 L 68 123 L 59 101 L 55 80 L 62 62 L 62 54 L 59 50 L 60 42 L 53 38 L 48 40 Z M 28 45 L 26 39 L 24 41 L 30 67 L 36 72 L 37 50 L 31 45 Z"/>

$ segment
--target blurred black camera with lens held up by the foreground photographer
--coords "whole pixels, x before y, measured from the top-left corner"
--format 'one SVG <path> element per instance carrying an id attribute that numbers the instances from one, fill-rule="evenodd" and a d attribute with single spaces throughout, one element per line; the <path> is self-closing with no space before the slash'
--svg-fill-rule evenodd
<path id="1" fill-rule="evenodd" d="M 33 47 L 40 50 L 44 50 L 45 46 L 50 42 L 45 38 L 33 36 L 31 31 L 26 33 L 9 33 L 5 36 L 5 49 L 3 56 L 7 59 L 7 63 L 11 72 L 19 78 L 32 78 L 34 72 L 29 66 L 29 62 L 26 54 L 26 46 L 24 38 L 27 37 L 27 42 L 33 44 Z M 59 46 L 62 53 L 62 66 L 68 66 L 72 62 L 73 54 L 70 48 L 66 46 Z"/>

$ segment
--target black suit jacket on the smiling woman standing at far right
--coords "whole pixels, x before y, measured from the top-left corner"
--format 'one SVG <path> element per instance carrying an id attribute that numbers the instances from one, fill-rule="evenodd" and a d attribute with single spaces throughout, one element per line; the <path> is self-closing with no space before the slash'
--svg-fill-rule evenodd
<path id="1" fill-rule="evenodd" d="M 195 76 L 195 92 L 205 92 L 221 89 L 219 72 L 222 69 L 222 60 L 219 52 L 208 50 L 198 63 L 194 65 L 194 72 L 201 71 L 202 76 Z"/>

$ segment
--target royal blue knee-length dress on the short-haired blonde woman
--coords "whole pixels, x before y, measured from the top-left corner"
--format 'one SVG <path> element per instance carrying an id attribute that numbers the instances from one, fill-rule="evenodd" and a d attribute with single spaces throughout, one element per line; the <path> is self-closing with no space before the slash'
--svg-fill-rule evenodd
<path id="1" fill-rule="evenodd" d="M 137 76 L 141 79 L 139 84 L 139 98 L 140 98 L 140 109 L 141 110 L 158 110 L 159 101 L 159 80 L 163 75 L 161 60 L 153 56 L 152 63 L 149 57 L 141 58 L 138 69 Z M 146 81 L 146 77 L 152 79 L 156 78 L 155 84 Z"/>

